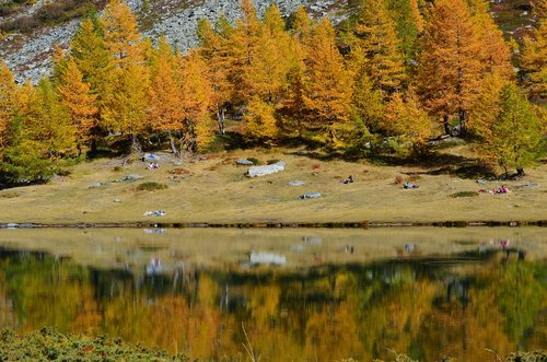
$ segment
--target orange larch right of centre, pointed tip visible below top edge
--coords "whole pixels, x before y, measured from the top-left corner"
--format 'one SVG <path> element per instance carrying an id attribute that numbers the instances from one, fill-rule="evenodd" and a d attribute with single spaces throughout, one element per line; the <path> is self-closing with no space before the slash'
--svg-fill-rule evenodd
<path id="1" fill-rule="evenodd" d="M 331 144 L 340 141 L 336 130 L 349 122 L 351 73 L 335 43 L 335 31 L 324 17 L 312 31 L 306 51 L 303 106 L 312 129 Z"/>

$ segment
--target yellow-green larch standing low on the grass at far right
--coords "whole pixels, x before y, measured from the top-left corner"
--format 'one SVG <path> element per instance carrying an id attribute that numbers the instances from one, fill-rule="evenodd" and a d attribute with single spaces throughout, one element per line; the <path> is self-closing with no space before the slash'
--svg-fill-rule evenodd
<path id="1" fill-rule="evenodd" d="M 537 155 L 545 121 L 536 117 L 514 83 L 503 87 L 491 147 L 505 173 L 509 167 L 514 167 L 519 175 L 524 175 L 524 167 L 531 165 Z"/>

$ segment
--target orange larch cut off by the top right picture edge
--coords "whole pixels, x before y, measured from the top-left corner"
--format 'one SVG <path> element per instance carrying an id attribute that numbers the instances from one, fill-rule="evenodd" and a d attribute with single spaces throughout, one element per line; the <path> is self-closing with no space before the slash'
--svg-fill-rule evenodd
<path id="1" fill-rule="evenodd" d="M 525 84 L 534 97 L 547 97 L 547 0 L 534 7 L 537 27 L 524 37 L 521 65 L 525 72 Z"/>

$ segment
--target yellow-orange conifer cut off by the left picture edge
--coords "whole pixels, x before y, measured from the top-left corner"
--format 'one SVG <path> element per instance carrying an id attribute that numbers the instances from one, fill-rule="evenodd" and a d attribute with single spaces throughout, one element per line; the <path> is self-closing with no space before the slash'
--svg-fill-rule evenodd
<path id="1" fill-rule="evenodd" d="M 0 157 L 8 141 L 8 130 L 16 113 L 18 87 L 5 62 L 0 62 Z"/>

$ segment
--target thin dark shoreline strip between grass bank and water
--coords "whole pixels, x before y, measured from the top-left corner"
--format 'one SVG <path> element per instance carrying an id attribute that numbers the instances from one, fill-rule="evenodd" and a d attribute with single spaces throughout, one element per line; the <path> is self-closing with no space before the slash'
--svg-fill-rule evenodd
<path id="1" fill-rule="evenodd" d="M 382 229 L 382 227 L 496 227 L 547 226 L 547 220 L 534 221 L 432 221 L 432 222 L 85 222 L 85 223 L 14 223 L 0 222 L 0 229 Z"/>

